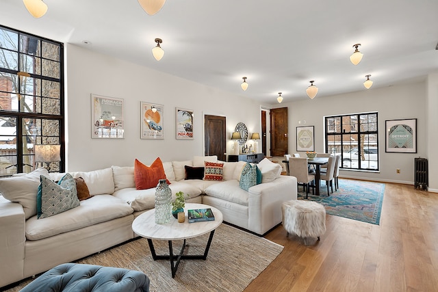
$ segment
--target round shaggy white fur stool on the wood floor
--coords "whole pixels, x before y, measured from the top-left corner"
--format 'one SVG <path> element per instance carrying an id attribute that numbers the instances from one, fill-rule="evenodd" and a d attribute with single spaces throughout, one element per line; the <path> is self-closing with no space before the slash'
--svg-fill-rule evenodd
<path id="1" fill-rule="evenodd" d="M 283 203 L 283 227 L 289 233 L 304 237 L 317 237 L 326 232 L 326 209 L 317 202 L 290 200 Z"/>

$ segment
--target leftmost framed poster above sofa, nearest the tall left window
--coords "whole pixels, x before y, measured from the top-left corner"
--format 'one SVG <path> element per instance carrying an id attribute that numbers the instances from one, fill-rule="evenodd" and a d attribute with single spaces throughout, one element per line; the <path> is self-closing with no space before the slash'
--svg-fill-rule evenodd
<path id="1" fill-rule="evenodd" d="M 123 99 L 91 94 L 92 138 L 125 137 Z"/>

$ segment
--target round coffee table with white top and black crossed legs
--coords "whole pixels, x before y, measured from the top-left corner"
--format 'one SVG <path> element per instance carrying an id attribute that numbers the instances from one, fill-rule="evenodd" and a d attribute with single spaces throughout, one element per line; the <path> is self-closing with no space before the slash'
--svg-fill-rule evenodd
<path id="1" fill-rule="evenodd" d="M 188 222 L 187 211 L 189 209 L 208 209 L 208 208 L 210 208 L 211 211 L 213 212 L 214 221 L 194 222 L 194 223 Z M 142 213 L 142 215 L 139 215 L 132 222 L 133 232 L 137 233 L 141 237 L 144 237 L 148 240 L 149 248 L 151 249 L 153 260 L 154 261 L 163 260 L 163 259 L 170 260 L 170 269 L 172 270 L 172 278 L 175 278 L 179 261 L 181 259 L 205 260 L 207 258 L 211 240 L 213 239 L 214 236 L 214 230 L 216 230 L 216 228 L 218 228 L 218 226 L 222 224 L 223 221 L 222 213 L 215 207 L 211 207 L 206 204 L 185 203 L 184 213 L 185 213 L 184 223 L 178 223 L 178 220 L 176 220 L 174 217 L 171 217 L 170 222 L 168 222 L 167 224 L 155 224 L 155 209 Z M 198 237 L 205 233 L 210 233 L 210 236 L 207 241 L 207 245 L 205 246 L 204 254 L 199 254 L 199 255 L 183 254 L 186 239 L 192 237 Z M 169 254 L 157 255 L 155 253 L 155 248 L 153 247 L 152 239 L 167 240 L 169 243 Z M 183 246 L 179 254 L 174 254 L 172 248 L 172 241 L 180 240 L 180 239 L 184 240 Z"/>

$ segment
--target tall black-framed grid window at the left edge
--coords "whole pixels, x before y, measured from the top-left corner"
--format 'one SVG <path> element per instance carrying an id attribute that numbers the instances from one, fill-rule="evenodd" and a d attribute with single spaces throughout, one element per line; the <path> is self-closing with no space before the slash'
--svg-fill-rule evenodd
<path id="1" fill-rule="evenodd" d="M 64 172 L 64 46 L 0 26 L 0 176 Z"/>

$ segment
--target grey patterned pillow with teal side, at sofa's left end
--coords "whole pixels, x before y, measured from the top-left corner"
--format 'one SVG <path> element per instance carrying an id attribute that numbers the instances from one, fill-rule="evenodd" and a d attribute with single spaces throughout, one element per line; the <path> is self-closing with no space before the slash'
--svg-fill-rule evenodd
<path id="1" fill-rule="evenodd" d="M 76 182 L 71 174 L 62 176 L 58 183 L 41 175 L 36 195 L 38 219 L 50 217 L 79 206 Z"/>

